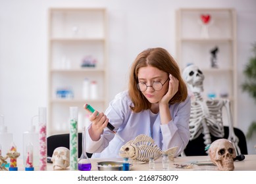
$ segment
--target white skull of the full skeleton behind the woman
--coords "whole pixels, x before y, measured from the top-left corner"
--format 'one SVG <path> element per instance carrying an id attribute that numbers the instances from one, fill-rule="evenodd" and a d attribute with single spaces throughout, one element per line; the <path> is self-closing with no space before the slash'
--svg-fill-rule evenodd
<path id="1" fill-rule="evenodd" d="M 193 93 L 201 93 L 203 91 L 203 80 L 205 76 L 203 72 L 195 65 L 189 65 L 183 70 L 184 80 Z"/>

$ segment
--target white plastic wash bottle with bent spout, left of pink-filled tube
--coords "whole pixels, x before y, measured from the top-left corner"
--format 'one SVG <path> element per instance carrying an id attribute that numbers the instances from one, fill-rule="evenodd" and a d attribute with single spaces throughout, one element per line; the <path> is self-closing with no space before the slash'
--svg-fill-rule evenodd
<path id="1" fill-rule="evenodd" d="M 36 126 L 33 125 L 34 118 L 38 118 L 38 116 L 32 117 L 31 127 L 28 131 L 23 133 L 23 164 L 26 166 L 27 159 L 27 147 L 32 144 L 33 148 L 33 165 L 39 166 L 39 133 L 36 132 Z"/>

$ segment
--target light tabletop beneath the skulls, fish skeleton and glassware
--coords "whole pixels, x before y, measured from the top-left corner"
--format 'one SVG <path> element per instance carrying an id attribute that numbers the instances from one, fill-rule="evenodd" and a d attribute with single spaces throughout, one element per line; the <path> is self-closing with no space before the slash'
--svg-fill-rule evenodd
<path id="1" fill-rule="evenodd" d="M 170 166 L 168 170 L 218 170 L 217 166 L 214 166 L 209 160 L 209 156 L 178 156 L 174 158 L 174 162 L 170 162 Z M 24 166 L 22 164 L 22 159 L 18 159 L 18 170 L 24 170 Z M 122 158 L 91 158 L 91 170 L 97 171 L 97 162 L 103 161 L 118 161 L 122 162 Z M 131 162 L 131 160 L 130 160 Z M 176 168 L 174 164 L 182 164 L 182 165 L 190 165 L 192 162 L 204 163 L 207 165 L 198 166 L 196 164 L 192 165 L 192 168 Z M 256 171 L 256 154 L 247 154 L 245 155 L 245 160 L 235 161 L 234 162 L 235 171 Z M 38 167 L 35 167 L 35 170 L 38 170 Z M 47 163 L 47 170 L 53 170 L 53 164 Z M 57 168 L 56 170 L 63 170 L 61 168 Z M 68 171 L 69 168 L 63 171 Z M 131 167 L 132 171 L 148 171 L 149 164 L 133 164 Z M 155 161 L 155 170 L 163 170 L 162 158 L 159 158 Z"/>

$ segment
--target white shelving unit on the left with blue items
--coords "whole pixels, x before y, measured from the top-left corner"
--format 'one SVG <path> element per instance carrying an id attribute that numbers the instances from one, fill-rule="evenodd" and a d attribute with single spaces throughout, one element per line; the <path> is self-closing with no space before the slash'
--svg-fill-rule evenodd
<path id="1" fill-rule="evenodd" d="M 81 131 L 87 114 L 83 109 L 85 103 L 99 111 L 107 107 L 107 12 L 105 9 L 51 8 L 48 26 L 47 135 L 69 132 L 70 106 L 78 106 L 78 130 Z M 82 66 L 83 60 L 90 66 Z M 97 99 L 83 99 L 84 78 L 97 82 Z"/>

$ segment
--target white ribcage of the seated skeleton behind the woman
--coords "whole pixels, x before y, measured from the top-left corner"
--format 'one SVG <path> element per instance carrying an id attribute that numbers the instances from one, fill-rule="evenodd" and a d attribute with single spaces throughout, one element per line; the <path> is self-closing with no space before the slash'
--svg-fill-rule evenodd
<path id="1" fill-rule="evenodd" d="M 207 124 L 210 133 L 215 137 L 224 136 L 222 124 L 223 106 L 224 103 L 221 100 L 192 102 L 190 114 L 190 141 L 203 133 L 203 123 Z"/>

